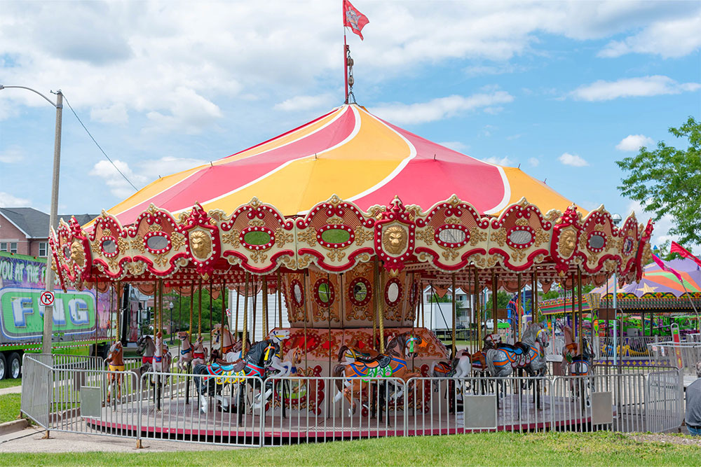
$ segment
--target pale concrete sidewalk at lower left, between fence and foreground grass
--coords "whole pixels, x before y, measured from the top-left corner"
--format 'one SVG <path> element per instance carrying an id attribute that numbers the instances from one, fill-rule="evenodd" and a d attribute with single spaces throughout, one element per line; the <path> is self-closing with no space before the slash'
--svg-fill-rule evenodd
<path id="1" fill-rule="evenodd" d="M 196 442 L 161 440 L 144 440 L 144 449 L 136 449 L 134 438 L 52 431 L 51 438 L 44 440 L 41 439 L 43 435 L 43 428 L 30 427 L 0 436 L 0 452 L 175 452 L 238 449 Z"/>

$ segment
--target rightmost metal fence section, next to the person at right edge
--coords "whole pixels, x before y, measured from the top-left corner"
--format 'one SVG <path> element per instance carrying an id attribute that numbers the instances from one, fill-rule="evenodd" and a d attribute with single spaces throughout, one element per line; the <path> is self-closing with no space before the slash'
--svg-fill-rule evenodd
<path id="1" fill-rule="evenodd" d="M 648 375 L 646 421 L 653 433 L 674 430 L 684 417 L 683 384 L 678 370 Z"/>

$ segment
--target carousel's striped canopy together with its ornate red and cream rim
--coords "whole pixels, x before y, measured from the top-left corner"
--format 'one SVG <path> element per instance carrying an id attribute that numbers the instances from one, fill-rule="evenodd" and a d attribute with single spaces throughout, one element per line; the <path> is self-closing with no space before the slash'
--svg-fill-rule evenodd
<path id="1" fill-rule="evenodd" d="M 519 169 L 351 104 L 159 179 L 90 225 L 62 223 L 50 242 L 60 278 L 75 286 L 240 284 L 245 272 L 354 274 L 377 260 L 395 278 L 467 290 L 479 276 L 515 290 L 534 280 L 572 286 L 580 274 L 636 279 L 652 228 L 634 214 L 619 228 L 603 206 L 587 214 Z"/>

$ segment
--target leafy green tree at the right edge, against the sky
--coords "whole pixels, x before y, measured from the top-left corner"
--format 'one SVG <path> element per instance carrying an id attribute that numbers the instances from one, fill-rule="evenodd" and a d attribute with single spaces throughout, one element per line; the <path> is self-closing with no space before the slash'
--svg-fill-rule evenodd
<path id="1" fill-rule="evenodd" d="M 669 230 L 682 244 L 701 243 L 701 123 L 689 117 L 679 128 L 669 128 L 677 138 L 688 139 L 686 150 L 660 141 L 657 149 L 642 147 L 637 155 L 616 162 L 628 172 L 618 187 L 622 195 L 638 201 L 646 212 L 672 216 Z"/>

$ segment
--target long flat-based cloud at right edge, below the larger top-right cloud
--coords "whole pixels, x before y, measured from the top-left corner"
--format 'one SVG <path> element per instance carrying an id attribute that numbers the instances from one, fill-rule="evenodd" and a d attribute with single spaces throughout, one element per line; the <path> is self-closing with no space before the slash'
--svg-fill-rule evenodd
<path id="1" fill-rule="evenodd" d="M 618 97 L 648 97 L 656 95 L 679 94 L 701 88 L 700 83 L 677 83 L 669 76 L 643 76 L 641 78 L 622 78 L 618 81 L 599 80 L 573 90 L 575 99 L 585 101 L 608 101 Z"/>

